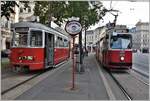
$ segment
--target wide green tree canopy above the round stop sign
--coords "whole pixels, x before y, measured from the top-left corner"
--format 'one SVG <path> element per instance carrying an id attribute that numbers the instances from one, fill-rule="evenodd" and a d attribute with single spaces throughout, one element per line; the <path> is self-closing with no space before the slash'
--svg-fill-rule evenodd
<path id="1" fill-rule="evenodd" d="M 101 2 L 95 4 L 89 1 L 36 1 L 34 15 L 39 16 L 43 24 L 48 24 L 54 17 L 54 22 L 59 26 L 65 19 L 79 17 L 80 23 L 88 28 L 105 16 L 106 9 L 102 8 Z"/>

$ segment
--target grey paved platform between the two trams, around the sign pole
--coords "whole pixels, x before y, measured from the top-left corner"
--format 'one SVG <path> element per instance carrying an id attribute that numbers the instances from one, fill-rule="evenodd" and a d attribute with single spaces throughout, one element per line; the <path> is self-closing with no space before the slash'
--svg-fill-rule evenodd
<path id="1" fill-rule="evenodd" d="M 108 100 L 93 54 L 84 58 L 85 72 L 75 74 L 76 90 L 71 91 L 72 63 L 16 98 L 17 100 Z"/>

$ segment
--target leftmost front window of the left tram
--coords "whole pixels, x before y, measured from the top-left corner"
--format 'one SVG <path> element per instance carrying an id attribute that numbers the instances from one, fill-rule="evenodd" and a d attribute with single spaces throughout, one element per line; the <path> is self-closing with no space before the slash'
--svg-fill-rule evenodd
<path id="1" fill-rule="evenodd" d="M 27 46 L 27 32 L 17 32 L 13 38 L 13 46 Z"/>

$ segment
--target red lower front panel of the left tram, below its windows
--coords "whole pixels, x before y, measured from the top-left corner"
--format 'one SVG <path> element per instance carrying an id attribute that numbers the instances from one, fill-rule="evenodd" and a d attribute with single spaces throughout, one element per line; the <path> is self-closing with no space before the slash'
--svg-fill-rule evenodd
<path id="1" fill-rule="evenodd" d="M 29 68 L 29 70 L 44 69 L 44 49 L 12 48 L 10 63 L 13 67 Z"/>

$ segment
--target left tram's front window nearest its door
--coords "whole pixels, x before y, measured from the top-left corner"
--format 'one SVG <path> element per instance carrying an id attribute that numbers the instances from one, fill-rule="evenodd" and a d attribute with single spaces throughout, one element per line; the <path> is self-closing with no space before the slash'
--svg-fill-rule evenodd
<path id="1" fill-rule="evenodd" d="M 42 46 L 42 32 L 41 31 L 31 31 L 30 45 L 31 47 Z"/>

